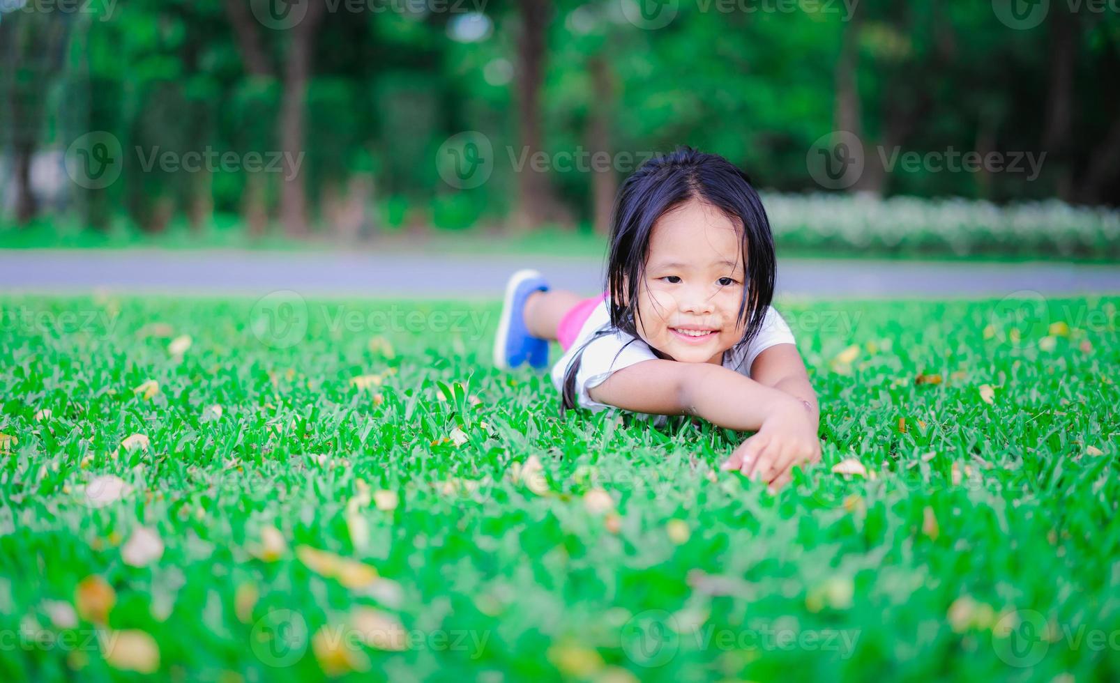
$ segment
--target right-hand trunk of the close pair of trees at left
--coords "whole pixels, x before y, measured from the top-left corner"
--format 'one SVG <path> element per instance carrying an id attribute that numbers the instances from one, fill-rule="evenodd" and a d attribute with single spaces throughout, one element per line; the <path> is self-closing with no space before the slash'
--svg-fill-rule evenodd
<path id="1" fill-rule="evenodd" d="M 280 105 L 280 149 L 283 155 L 283 178 L 280 193 L 280 219 L 292 237 L 307 234 L 307 188 L 297 172 L 295 161 L 304 155 L 304 120 L 307 84 L 311 77 L 315 34 L 325 11 L 320 0 L 309 2 L 302 21 L 292 27 L 291 43 L 283 75 L 283 101 Z"/>

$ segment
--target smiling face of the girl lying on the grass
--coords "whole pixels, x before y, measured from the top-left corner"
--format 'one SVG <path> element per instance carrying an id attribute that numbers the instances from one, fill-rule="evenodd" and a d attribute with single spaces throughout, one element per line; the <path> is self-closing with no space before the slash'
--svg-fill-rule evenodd
<path id="1" fill-rule="evenodd" d="M 682 363 L 718 364 L 743 339 L 739 235 L 719 209 L 696 199 L 657 219 L 638 288 L 636 324 L 646 344 Z"/>

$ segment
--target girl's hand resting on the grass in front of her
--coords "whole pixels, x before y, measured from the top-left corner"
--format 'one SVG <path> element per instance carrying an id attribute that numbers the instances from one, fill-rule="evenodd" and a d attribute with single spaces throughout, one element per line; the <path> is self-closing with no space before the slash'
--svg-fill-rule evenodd
<path id="1" fill-rule="evenodd" d="M 793 468 L 818 462 L 821 441 L 811 408 L 799 400 L 783 403 L 764 421 L 755 436 L 739 445 L 720 469 L 738 470 L 752 479 L 760 479 L 777 490 L 793 478 Z"/>

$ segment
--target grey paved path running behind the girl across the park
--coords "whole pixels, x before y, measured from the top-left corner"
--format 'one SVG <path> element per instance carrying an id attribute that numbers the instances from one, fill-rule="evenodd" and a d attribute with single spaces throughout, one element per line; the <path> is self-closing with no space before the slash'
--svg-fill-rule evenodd
<path id="1" fill-rule="evenodd" d="M 277 253 L 0 250 L 0 291 L 86 291 L 383 297 L 498 297 L 519 268 L 557 288 L 594 293 L 596 259 L 421 253 Z M 1120 265 L 787 259 L 778 292 L 800 297 L 943 297 L 1120 292 Z"/>

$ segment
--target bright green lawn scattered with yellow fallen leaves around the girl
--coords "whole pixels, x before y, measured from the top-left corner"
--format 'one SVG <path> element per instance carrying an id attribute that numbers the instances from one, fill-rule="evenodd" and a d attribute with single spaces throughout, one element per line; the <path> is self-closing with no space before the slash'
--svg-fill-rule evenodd
<path id="1" fill-rule="evenodd" d="M 1116 680 L 1118 303 L 782 307 L 824 461 L 771 496 L 560 417 L 495 306 L 6 296 L 0 677 Z"/>

